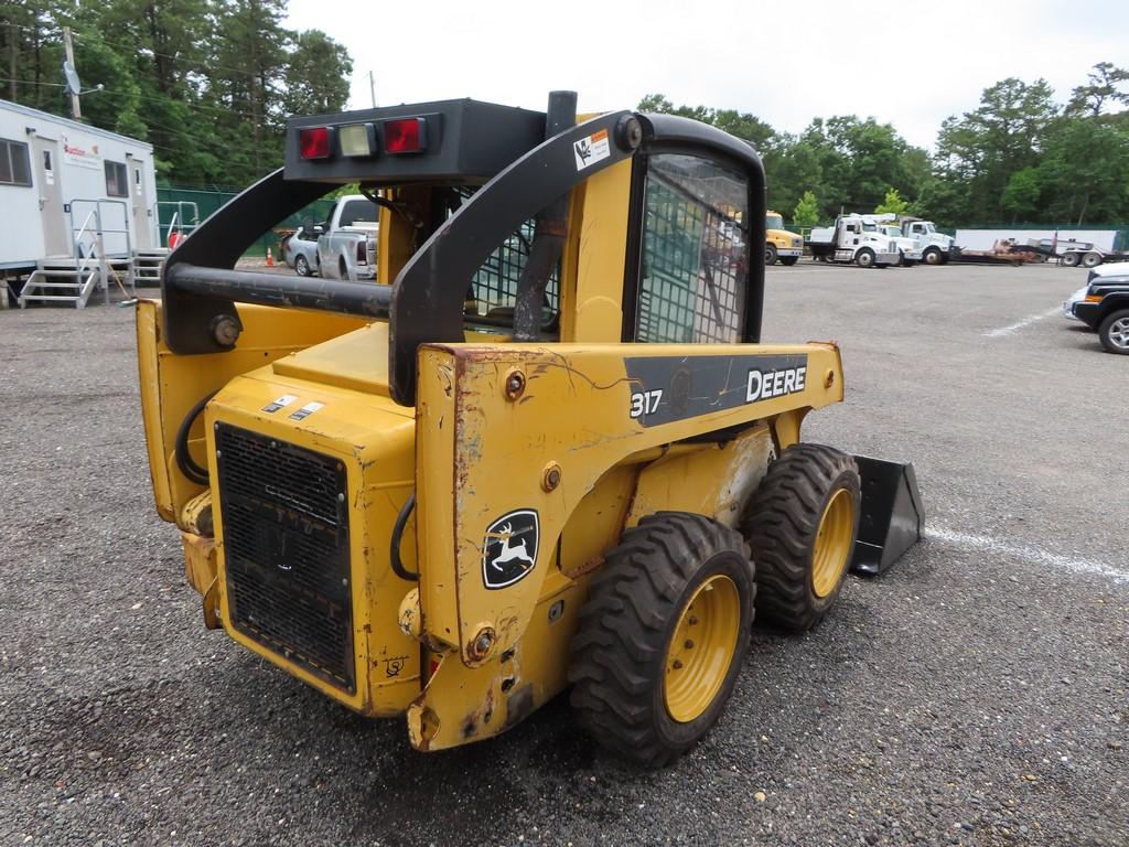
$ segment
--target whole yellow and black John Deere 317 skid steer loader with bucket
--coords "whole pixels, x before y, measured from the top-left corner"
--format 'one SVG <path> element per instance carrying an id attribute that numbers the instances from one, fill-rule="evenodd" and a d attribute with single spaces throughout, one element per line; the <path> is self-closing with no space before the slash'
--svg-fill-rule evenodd
<path id="1" fill-rule="evenodd" d="M 347 183 L 380 210 L 375 283 L 234 270 Z M 842 369 L 760 343 L 764 197 L 749 145 L 577 123 L 571 93 L 291 120 L 286 166 L 138 308 L 157 509 L 207 626 L 406 713 L 419 750 L 568 688 L 622 756 L 690 749 L 754 612 L 807 629 L 852 550 L 879 569 L 920 531 L 907 466 L 800 443 Z"/>

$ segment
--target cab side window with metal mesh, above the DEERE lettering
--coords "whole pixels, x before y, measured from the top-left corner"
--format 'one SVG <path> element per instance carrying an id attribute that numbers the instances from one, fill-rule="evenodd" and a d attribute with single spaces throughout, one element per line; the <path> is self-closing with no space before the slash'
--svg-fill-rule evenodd
<path id="1" fill-rule="evenodd" d="M 634 340 L 739 341 L 751 246 L 745 177 L 698 156 L 657 154 L 644 192 Z"/>

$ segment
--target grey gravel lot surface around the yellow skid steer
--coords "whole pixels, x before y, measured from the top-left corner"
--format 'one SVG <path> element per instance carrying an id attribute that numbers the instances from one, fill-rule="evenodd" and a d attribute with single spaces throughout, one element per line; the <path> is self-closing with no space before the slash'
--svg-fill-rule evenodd
<path id="1" fill-rule="evenodd" d="M 1129 360 L 1047 314 L 1083 279 L 770 271 L 765 339 L 843 348 L 807 438 L 912 460 L 930 535 L 816 631 L 758 631 L 717 728 L 646 774 L 560 701 L 422 756 L 205 631 L 132 311 L 0 312 L 0 845 L 1123 847 Z"/>

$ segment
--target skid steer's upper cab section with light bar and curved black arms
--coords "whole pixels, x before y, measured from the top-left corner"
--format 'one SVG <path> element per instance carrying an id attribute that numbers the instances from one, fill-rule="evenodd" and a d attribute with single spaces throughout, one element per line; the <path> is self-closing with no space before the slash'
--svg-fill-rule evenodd
<path id="1" fill-rule="evenodd" d="M 575 97 L 554 93 L 548 113 L 444 101 L 292 119 L 285 168 L 229 207 L 238 217 L 221 210 L 169 256 L 169 346 L 229 349 L 236 303 L 387 317 L 393 392 L 406 401 L 421 343 L 759 341 L 763 269 L 750 245 L 764 239 L 764 177 L 752 148 L 671 115 L 577 125 Z M 610 181 L 627 215 L 580 233 L 586 191 Z M 376 285 L 331 291 L 327 280 L 224 270 L 280 215 L 349 183 L 379 207 Z M 586 324 L 593 269 L 577 263 L 593 237 L 612 242 L 595 269 L 609 320 L 589 309 Z"/>

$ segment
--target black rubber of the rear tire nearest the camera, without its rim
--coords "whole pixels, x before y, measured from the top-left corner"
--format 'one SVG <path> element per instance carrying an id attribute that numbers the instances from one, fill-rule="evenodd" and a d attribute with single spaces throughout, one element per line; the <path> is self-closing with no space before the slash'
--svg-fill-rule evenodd
<path id="1" fill-rule="evenodd" d="M 737 645 L 712 702 L 680 723 L 664 700 L 666 650 L 684 605 L 716 574 L 737 586 Z M 602 746 L 644 767 L 659 768 L 685 753 L 709 732 L 733 692 L 749 648 L 755 595 L 741 533 L 681 512 L 645 517 L 609 551 L 580 610 L 569 667 L 579 724 Z"/>

